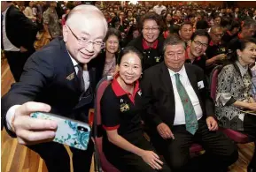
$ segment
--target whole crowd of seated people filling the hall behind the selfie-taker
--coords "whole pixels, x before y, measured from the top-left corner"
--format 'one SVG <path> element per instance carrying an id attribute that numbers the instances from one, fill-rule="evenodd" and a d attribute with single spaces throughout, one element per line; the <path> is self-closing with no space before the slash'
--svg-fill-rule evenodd
<path id="1" fill-rule="evenodd" d="M 79 4 L 17 7 L 53 40 Z M 120 171 L 221 172 L 237 161 L 238 153 L 219 127 L 241 131 L 256 143 L 256 116 L 246 113 L 256 111 L 256 9 L 95 5 L 105 15 L 108 31 L 105 48 L 90 64 L 96 66 L 97 78 L 113 76 L 101 101 L 103 150 L 112 165 Z M 209 77 L 219 65 L 213 100 Z M 143 137 L 142 120 L 152 145 Z M 206 153 L 190 160 L 194 142 Z M 249 169 L 256 171 L 256 151 Z"/>

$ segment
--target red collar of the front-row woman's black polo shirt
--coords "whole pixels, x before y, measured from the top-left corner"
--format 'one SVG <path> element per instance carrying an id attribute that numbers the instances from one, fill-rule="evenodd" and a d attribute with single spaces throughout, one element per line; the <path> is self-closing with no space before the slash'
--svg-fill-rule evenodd
<path id="1" fill-rule="evenodd" d="M 113 92 L 115 93 L 116 96 L 122 96 L 122 95 L 125 95 L 125 94 L 130 94 L 128 92 L 126 92 L 119 84 L 119 82 L 117 81 L 117 78 L 119 77 L 120 75 L 117 74 L 114 76 L 114 78 L 112 79 L 112 90 Z M 136 80 L 136 84 L 135 84 L 135 89 L 134 89 L 134 93 L 133 94 L 136 94 L 137 92 L 139 91 L 139 81 Z"/>

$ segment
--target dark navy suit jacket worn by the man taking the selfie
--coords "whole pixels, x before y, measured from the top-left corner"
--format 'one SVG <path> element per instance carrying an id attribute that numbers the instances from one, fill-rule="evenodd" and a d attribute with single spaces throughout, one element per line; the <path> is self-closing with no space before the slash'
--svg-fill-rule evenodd
<path id="1" fill-rule="evenodd" d="M 90 64 L 88 67 L 93 94 L 97 84 L 96 69 Z M 38 101 L 49 104 L 51 113 L 87 122 L 88 110 L 93 107 L 93 100 L 78 108 L 81 93 L 81 84 L 65 42 L 62 38 L 56 38 L 27 59 L 20 81 L 13 84 L 2 99 L 2 116 L 5 118 L 7 110 L 13 105 Z M 7 130 L 5 119 L 4 125 Z"/>

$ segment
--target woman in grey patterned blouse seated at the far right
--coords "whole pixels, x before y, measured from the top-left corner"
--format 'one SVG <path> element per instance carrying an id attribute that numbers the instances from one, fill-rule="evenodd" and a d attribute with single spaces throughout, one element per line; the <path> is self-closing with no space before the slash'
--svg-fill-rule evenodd
<path id="1" fill-rule="evenodd" d="M 232 58 L 233 63 L 224 66 L 218 76 L 216 116 L 221 127 L 242 131 L 255 143 L 256 116 L 241 110 L 256 111 L 256 103 L 251 94 L 252 74 L 249 69 L 249 65 L 255 63 L 256 40 L 240 40 L 234 49 L 237 49 L 237 53 Z M 256 171 L 256 149 L 248 171 Z"/>

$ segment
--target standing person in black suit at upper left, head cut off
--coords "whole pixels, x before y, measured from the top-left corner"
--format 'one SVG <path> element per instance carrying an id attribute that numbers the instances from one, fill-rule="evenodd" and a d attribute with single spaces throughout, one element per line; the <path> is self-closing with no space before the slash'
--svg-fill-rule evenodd
<path id="1" fill-rule="evenodd" d="M 27 58 L 35 52 L 37 28 L 10 1 L 1 1 L 1 12 L 1 49 L 4 50 L 13 78 L 18 82 Z"/>

